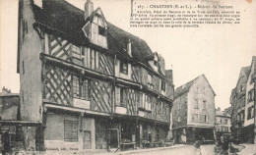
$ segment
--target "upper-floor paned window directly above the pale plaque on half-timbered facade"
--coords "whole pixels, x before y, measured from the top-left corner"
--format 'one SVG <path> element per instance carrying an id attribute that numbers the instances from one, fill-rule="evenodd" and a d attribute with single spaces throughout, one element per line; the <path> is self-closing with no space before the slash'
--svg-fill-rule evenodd
<path id="1" fill-rule="evenodd" d="M 73 76 L 73 96 L 75 98 L 90 100 L 89 80 Z"/>

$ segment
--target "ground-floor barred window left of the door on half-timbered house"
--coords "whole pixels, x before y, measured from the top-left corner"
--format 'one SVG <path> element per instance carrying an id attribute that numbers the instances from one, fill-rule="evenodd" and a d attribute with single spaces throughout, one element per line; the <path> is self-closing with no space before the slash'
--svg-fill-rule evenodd
<path id="1" fill-rule="evenodd" d="M 78 141 L 78 121 L 64 121 L 64 140 Z"/>

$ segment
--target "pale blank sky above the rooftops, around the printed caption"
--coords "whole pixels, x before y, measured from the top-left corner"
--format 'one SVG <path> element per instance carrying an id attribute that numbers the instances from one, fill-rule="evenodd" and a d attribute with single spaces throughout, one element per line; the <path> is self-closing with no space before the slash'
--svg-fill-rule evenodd
<path id="1" fill-rule="evenodd" d="M 84 9 L 86 2 L 67 1 L 80 9 Z M 236 85 L 241 67 L 250 66 L 252 56 L 256 55 L 255 1 L 222 1 L 226 5 L 232 1 L 233 7 L 241 12 L 240 25 L 198 28 L 131 28 L 130 0 L 91 1 L 95 9 L 100 7 L 109 23 L 146 40 L 152 51 L 164 58 L 165 69 L 173 70 L 175 87 L 204 74 L 217 94 L 216 107 L 224 110 L 230 106 L 230 92 Z M 158 2 L 179 3 L 175 0 Z M 0 15 L 0 87 L 19 92 L 20 78 L 16 73 L 18 0 L 1 0 Z"/>

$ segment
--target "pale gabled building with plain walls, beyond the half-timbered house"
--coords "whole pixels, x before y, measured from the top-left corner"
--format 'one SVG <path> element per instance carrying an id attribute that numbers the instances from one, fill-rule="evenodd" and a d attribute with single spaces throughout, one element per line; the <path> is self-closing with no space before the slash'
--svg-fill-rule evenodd
<path id="1" fill-rule="evenodd" d="M 215 96 L 204 75 L 176 88 L 171 110 L 175 142 L 194 143 L 203 137 L 215 140 Z"/>

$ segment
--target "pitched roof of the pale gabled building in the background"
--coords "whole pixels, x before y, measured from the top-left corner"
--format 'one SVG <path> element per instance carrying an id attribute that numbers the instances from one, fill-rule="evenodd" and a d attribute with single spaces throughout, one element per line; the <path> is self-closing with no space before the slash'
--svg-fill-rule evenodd
<path id="1" fill-rule="evenodd" d="M 175 92 L 174 92 L 174 97 L 176 98 L 176 97 L 178 97 L 178 96 L 180 96 L 180 95 L 182 95 L 182 94 L 188 92 L 189 89 L 190 89 L 190 87 L 191 87 L 191 86 L 196 82 L 196 80 L 197 80 L 198 78 L 200 78 L 200 77 L 204 77 L 204 78 L 207 80 L 207 82 L 209 83 L 209 81 L 208 81 L 208 79 L 205 77 L 205 75 L 201 75 L 201 76 L 199 76 L 199 77 L 197 77 L 197 78 L 194 78 L 194 79 L 188 81 L 187 83 L 185 83 L 185 84 L 183 84 L 183 85 L 177 87 L 176 90 L 175 90 Z M 213 90 L 214 94 L 216 95 L 216 93 L 215 93 L 214 89 L 212 88 L 211 84 L 209 84 L 209 86 L 211 87 L 211 89 Z"/>

